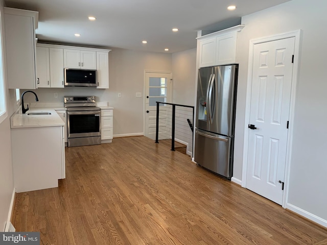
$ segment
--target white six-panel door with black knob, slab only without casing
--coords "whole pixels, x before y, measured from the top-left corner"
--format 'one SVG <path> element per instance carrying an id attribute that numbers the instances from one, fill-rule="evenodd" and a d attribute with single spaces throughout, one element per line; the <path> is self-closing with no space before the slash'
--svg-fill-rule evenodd
<path id="1" fill-rule="evenodd" d="M 295 38 L 254 45 L 246 188 L 282 204 Z"/>

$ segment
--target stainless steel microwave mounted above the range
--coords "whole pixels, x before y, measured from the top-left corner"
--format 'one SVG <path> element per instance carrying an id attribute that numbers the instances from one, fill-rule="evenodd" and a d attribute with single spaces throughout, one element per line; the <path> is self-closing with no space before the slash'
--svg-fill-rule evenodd
<path id="1" fill-rule="evenodd" d="M 96 87 L 97 70 L 64 69 L 65 86 Z"/>

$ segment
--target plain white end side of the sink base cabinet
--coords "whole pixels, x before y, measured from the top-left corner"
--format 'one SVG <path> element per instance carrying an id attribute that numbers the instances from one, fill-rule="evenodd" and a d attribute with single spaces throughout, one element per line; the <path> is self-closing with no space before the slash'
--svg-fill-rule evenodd
<path id="1" fill-rule="evenodd" d="M 65 178 L 63 126 L 11 129 L 16 192 L 58 187 Z"/>

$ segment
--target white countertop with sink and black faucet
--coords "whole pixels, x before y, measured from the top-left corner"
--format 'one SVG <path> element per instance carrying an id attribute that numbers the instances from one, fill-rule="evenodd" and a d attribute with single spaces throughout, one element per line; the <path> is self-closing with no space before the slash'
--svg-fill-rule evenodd
<path id="1" fill-rule="evenodd" d="M 28 115 L 29 112 L 50 112 L 51 115 Z M 65 122 L 51 108 L 31 108 L 22 114 L 21 110 L 10 117 L 10 128 L 36 128 L 64 126 Z"/>

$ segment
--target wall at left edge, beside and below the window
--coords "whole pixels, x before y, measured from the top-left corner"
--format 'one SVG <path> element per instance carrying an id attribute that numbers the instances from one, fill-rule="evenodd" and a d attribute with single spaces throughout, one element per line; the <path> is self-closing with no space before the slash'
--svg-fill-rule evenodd
<path id="1" fill-rule="evenodd" d="M 0 0 L 0 13 L 2 22 L 2 45 L 5 50 L 4 43 L 4 17 L 3 17 L 3 0 Z M 5 54 L 4 54 L 5 56 Z M 4 76 L 6 81 L 6 57 L 4 57 Z M 11 158 L 11 136 L 10 136 L 10 120 L 9 117 L 15 109 L 14 90 L 6 89 L 7 93 L 7 111 L 8 117 L 0 124 L 0 231 L 5 230 L 8 218 L 11 197 L 14 189 L 12 174 L 12 158 Z"/>

